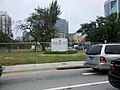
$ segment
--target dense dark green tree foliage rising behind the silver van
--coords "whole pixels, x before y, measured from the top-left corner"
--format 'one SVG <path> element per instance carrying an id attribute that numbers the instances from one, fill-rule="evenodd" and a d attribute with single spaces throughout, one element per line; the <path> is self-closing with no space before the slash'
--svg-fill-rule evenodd
<path id="1" fill-rule="evenodd" d="M 119 42 L 120 18 L 117 19 L 116 13 L 108 17 L 98 17 L 94 22 L 82 24 L 77 32 L 86 33 L 86 40 L 92 42 Z"/>

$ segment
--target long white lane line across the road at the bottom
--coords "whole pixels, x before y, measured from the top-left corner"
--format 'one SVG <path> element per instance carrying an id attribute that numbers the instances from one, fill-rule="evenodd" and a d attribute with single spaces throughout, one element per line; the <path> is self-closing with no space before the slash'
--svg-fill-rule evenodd
<path id="1" fill-rule="evenodd" d="M 109 81 L 86 83 L 86 84 L 79 84 L 79 85 L 72 85 L 72 86 L 64 86 L 64 87 L 50 88 L 50 89 L 44 89 L 44 90 L 61 90 L 61 89 L 83 87 L 83 86 L 91 86 L 91 85 L 99 85 L 99 84 L 106 84 L 106 83 L 109 83 Z"/>

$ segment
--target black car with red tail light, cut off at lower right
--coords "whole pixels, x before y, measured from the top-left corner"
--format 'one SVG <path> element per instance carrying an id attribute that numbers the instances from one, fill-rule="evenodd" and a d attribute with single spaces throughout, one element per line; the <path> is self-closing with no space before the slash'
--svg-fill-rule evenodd
<path id="1" fill-rule="evenodd" d="M 120 58 L 111 61 L 108 80 L 112 86 L 120 89 Z"/>

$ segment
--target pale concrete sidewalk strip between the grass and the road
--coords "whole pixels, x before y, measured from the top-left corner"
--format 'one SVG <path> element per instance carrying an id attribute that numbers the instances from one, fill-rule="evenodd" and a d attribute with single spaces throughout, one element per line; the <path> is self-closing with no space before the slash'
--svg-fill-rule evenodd
<path id="1" fill-rule="evenodd" d="M 3 67 L 4 67 L 3 73 L 47 70 L 47 69 L 63 70 L 63 69 L 85 68 L 84 61 L 45 63 L 45 64 L 25 64 L 25 65 L 14 65 L 14 66 L 3 66 Z"/>

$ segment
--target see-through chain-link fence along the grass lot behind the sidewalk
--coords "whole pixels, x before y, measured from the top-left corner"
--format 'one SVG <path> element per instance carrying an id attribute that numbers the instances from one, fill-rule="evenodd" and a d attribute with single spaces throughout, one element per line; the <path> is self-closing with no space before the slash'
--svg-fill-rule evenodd
<path id="1" fill-rule="evenodd" d="M 80 53 L 77 55 L 76 54 L 46 55 L 44 54 L 44 51 L 42 51 L 43 44 L 45 45 L 46 51 L 51 51 L 51 42 L 0 43 L 0 64 L 16 65 L 16 64 L 51 63 L 53 61 L 55 62 L 79 61 L 84 59 L 86 49 L 88 49 L 92 44 L 96 43 L 69 42 L 68 50 L 77 50 Z"/>

